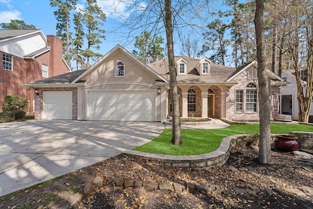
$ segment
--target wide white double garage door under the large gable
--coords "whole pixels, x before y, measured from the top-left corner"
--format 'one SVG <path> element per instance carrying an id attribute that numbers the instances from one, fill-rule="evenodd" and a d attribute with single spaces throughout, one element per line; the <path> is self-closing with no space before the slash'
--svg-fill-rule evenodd
<path id="1" fill-rule="evenodd" d="M 89 120 L 154 121 L 154 92 L 89 92 Z"/>

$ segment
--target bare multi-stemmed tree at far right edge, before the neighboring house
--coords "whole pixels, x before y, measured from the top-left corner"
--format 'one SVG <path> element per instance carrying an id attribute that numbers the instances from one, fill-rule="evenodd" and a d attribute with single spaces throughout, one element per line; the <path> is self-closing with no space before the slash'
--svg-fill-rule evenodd
<path id="1" fill-rule="evenodd" d="M 280 28 L 287 53 L 295 69 L 299 121 L 308 122 L 313 95 L 313 2 L 286 0 L 278 4 L 282 22 Z M 307 70 L 307 82 L 301 76 Z"/>

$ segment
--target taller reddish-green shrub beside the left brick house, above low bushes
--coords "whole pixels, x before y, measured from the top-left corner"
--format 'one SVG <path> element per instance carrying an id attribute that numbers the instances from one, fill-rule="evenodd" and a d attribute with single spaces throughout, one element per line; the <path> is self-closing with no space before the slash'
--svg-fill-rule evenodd
<path id="1" fill-rule="evenodd" d="M 23 111 L 27 106 L 27 99 L 16 95 L 6 95 L 2 105 L 3 112 Z"/>

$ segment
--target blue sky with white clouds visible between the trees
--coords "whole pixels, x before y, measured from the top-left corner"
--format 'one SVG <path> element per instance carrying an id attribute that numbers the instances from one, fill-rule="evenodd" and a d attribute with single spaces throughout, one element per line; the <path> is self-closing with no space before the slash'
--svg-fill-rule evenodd
<path id="1" fill-rule="evenodd" d="M 106 30 L 106 40 L 100 45 L 101 49 L 97 51 L 103 55 L 117 44 L 120 44 L 129 51 L 134 49 L 134 42 L 126 41 L 125 38 L 123 39 L 120 36 L 118 30 L 116 30 L 118 25 L 116 24 L 116 20 L 113 20 L 111 13 L 124 11 L 126 8 L 125 4 L 116 4 L 116 2 L 117 0 L 97 0 L 97 4 L 107 16 L 104 27 Z M 77 9 L 84 8 L 84 4 L 84 0 L 78 0 Z M 216 3 L 215 7 L 218 7 L 218 5 L 221 5 L 221 3 Z M 36 28 L 41 29 L 45 36 L 55 35 L 57 23 L 53 14 L 55 10 L 56 7 L 50 6 L 50 0 L 0 0 L 0 23 L 10 23 L 10 20 L 23 20 L 26 24 L 33 24 Z M 134 40 L 134 37 L 132 40 Z M 175 47 L 175 55 L 180 55 L 179 46 Z"/>

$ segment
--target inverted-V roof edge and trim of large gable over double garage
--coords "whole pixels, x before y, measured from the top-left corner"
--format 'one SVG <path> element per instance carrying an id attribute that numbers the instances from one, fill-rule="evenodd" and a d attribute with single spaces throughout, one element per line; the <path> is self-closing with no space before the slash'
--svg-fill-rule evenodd
<path id="1" fill-rule="evenodd" d="M 132 53 L 130 53 L 129 51 L 127 51 L 125 48 L 123 48 L 120 45 L 116 45 L 114 48 L 112 48 L 107 54 L 105 54 L 101 59 L 99 59 L 96 63 L 94 63 L 88 70 L 86 70 L 84 73 L 82 73 L 80 76 L 78 76 L 75 80 L 73 80 L 72 83 L 75 83 L 75 82 L 79 81 L 80 79 L 83 79 L 84 77 L 89 75 L 91 72 L 96 70 L 100 65 L 102 65 L 108 59 L 108 57 L 110 57 L 110 55 L 112 55 L 117 50 L 122 51 L 124 54 L 126 54 L 131 59 L 133 59 L 134 62 L 136 62 L 138 65 L 142 66 L 143 68 L 147 69 L 150 73 L 154 74 L 159 80 L 167 83 L 166 79 L 164 79 L 162 76 L 160 76 L 158 73 L 156 73 L 156 71 L 154 71 L 153 69 L 148 67 L 143 62 L 141 62 L 137 57 L 135 57 Z"/>

